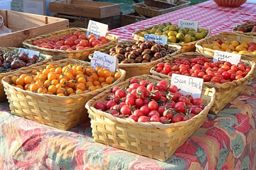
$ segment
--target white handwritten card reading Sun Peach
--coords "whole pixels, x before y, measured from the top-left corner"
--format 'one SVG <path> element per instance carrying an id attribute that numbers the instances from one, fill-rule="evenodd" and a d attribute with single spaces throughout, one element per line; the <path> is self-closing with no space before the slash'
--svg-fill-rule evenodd
<path id="1" fill-rule="evenodd" d="M 203 79 L 198 77 L 189 77 L 181 74 L 171 74 L 171 85 L 175 85 L 181 89 L 181 93 L 191 94 L 194 98 L 201 97 Z"/>

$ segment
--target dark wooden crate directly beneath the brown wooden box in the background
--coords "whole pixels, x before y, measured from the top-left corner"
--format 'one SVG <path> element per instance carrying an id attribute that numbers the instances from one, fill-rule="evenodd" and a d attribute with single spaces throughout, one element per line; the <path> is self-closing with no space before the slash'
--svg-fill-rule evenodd
<path id="1" fill-rule="evenodd" d="M 87 28 L 90 20 L 107 24 L 109 26 L 109 30 L 112 30 L 114 28 L 119 28 L 121 26 L 121 16 L 110 16 L 107 18 L 100 18 L 100 19 L 87 18 L 83 16 L 70 16 L 70 15 L 64 15 L 60 13 L 55 13 L 53 16 L 58 18 L 68 19 L 70 28 L 73 28 L 73 27 Z"/>

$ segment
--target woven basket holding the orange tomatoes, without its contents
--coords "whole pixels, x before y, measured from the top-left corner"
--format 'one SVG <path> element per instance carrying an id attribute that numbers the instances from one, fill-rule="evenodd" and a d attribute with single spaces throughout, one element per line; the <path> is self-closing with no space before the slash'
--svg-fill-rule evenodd
<path id="1" fill-rule="evenodd" d="M 48 64 L 63 67 L 67 64 L 75 63 L 82 63 L 90 66 L 88 62 L 74 59 L 58 60 L 49 62 Z M 41 66 L 33 67 L 33 69 L 45 68 L 46 65 L 47 64 L 43 64 Z M 11 77 L 19 76 L 21 74 L 29 74 L 33 69 L 20 70 L 20 72 L 15 72 L 1 80 L 2 84 L 4 84 L 4 91 L 10 104 L 11 113 L 60 130 L 68 130 L 88 119 L 85 103 L 105 89 L 110 89 L 114 84 L 124 81 L 125 77 L 124 70 L 117 69 L 117 72 L 122 72 L 122 77 L 117 79 L 117 81 L 114 81 L 113 84 L 105 86 L 102 89 L 91 91 L 87 94 L 74 96 L 37 94 L 32 91 L 19 89 L 9 84 Z"/>

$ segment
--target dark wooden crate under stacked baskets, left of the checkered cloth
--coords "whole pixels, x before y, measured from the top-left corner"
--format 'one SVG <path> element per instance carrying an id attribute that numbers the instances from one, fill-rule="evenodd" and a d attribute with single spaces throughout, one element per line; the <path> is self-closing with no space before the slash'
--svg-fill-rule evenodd
<path id="1" fill-rule="evenodd" d="M 142 16 L 139 13 L 127 13 L 122 14 L 121 16 L 121 26 L 127 26 L 131 23 L 137 23 L 139 21 L 143 21 L 145 19 L 148 19 L 149 17 Z"/>

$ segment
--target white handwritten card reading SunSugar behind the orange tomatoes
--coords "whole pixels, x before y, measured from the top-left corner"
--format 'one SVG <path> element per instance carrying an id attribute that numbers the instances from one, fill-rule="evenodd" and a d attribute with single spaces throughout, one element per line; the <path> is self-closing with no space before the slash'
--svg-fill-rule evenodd
<path id="1" fill-rule="evenodd" d="M 91 61 L 92 68 L 95 69 L 97 66 L 101 66 L 115 72 L 118 69 L 118 59 L 111 55 L 107 55 L 102 52 L 95 51 Z"/>

